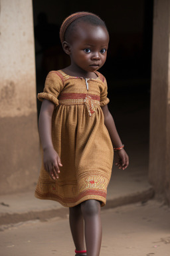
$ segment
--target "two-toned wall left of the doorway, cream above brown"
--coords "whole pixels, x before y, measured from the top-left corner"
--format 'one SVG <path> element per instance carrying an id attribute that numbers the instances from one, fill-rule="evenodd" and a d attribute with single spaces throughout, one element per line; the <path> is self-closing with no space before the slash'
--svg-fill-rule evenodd
<path id="1" fill-rule="evenodd" d="M 39 135 L 32 1 L 1 0 L 0 194 L 37 181 Z"/>

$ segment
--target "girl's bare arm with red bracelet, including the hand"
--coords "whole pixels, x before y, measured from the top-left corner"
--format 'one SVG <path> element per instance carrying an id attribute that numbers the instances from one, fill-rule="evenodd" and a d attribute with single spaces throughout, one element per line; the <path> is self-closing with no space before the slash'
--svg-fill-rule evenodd
<path id="1" fill-rule="evenodd" d="M 114 119 L 108 109 L 108 105 L 102 107 L 102 111 L 104 113 L 104 124 L 108 129 L 110 139 L 112 141 L 113 147 L 122 147 L 122 141 L 118 135 L 118 131 L 116 129 L 116 125 L 114 123 Z M 129 157 L 124 149 L 120 149 L 115 151 L 116 153 L 116 165 L 118 165 L 119 169 L 126 169 L 129 165 Z"/>

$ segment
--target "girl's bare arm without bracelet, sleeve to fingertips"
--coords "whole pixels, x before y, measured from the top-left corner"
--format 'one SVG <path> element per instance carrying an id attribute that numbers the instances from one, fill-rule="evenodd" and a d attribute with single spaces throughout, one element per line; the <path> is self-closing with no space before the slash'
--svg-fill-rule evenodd
<path id="1" fill-rule="evenodd" d="M 59 166 L 62 166 L 58 153 L 54 150 L 51 138 L 51 121 L 54 104 L 44 99 L 41 105 L 39 115 L 39 135 L 43 149 L 44 169 L 49 173 L 52 179 L 58 179 L 60 173 Z"/>

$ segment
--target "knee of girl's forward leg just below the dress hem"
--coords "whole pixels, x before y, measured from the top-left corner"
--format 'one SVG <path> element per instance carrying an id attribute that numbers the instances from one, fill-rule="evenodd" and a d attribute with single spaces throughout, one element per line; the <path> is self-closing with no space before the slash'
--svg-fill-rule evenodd
<path id="1" fill-rule="evenodd" d="M 92 199 L 86 200 L 81 203 L 81 209 L 84 215 L 98 215 L 100 213 L 100 201 Z"/>

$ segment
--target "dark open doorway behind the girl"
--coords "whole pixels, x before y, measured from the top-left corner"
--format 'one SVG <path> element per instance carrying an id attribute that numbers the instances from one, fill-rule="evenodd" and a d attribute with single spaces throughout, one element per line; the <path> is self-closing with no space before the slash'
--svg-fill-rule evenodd
<path id="1" fill-rule="evenodd" d="M 59 40 L 60 24 L 76 11 L 99 15 L 110 33 L 107 61 L 108 108 L 129 155 L 131 177 L 147 177 L 153 0 L 33 0 L 37 93 L 50 70 L 69 65 Z M 41 102 L 37 101 L 38 116 Z M 135 175 L 137 173 L 137 175 Z M 123 175 L 123 174 L 122 174 Z"/>

